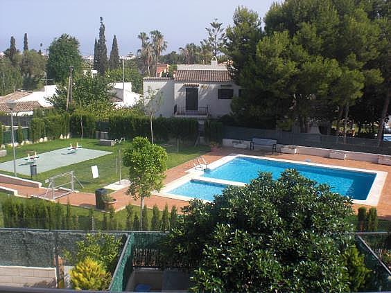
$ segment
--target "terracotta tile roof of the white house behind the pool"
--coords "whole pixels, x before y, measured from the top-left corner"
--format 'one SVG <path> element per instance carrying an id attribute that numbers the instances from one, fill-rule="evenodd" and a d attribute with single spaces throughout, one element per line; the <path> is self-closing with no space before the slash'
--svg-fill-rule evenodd
<path id="1" fill-rule="evenodd" d="M 177 71 L 177 81 L 188 82 L 233 82 L 227 70 L 183 70 Z"/>

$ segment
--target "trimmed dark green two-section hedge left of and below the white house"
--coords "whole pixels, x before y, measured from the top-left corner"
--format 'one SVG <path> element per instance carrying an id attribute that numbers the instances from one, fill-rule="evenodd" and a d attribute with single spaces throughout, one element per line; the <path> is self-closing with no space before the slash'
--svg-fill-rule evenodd
<path id="1" fill-rule="evenodd" d="M 150 119 L 147 116 L 134 114 L 116 114 L 109 119 L 109 133 L 112 139 L 136 136 L 150 137 Z M 189 118 L 153 118 L 155 139 L 168 141 L 182 139 L 193 141 L 198 136 L 198 121 Z"/>

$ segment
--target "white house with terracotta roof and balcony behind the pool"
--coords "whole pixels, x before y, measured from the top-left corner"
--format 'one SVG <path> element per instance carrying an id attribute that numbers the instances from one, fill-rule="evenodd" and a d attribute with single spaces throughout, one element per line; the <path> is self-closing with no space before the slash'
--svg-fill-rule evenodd
<path id="1" fill-rule="evenodd" d="M 239 95 L 225 64 L 178 65 L 175 78 L 143 78 L 144 97 L 157 95 L 161 104 L 156 116 L 218 118 L 231 111 L 231 100 Z"/>

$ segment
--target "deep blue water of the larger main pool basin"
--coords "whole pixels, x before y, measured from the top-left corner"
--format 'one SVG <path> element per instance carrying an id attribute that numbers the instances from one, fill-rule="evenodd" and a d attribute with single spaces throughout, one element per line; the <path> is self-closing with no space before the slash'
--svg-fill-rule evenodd
<path id="1" fill-rule="evenodd" d="M 318 183 L 328 184 L 333 192 L 360 200 L 367 199 L 376 177 L 374 173 L 369 172 L 356 172 L 249 157 L 236 157 L 214 170 L 204 172 L 203 176 L 250 183 L 252 179 L 258 176 L 259 172 L 272 172 L 273 179 L 277 179 L 281 172 L 288 168 L 294 168 L 304 177 L 315 180 Z"/>

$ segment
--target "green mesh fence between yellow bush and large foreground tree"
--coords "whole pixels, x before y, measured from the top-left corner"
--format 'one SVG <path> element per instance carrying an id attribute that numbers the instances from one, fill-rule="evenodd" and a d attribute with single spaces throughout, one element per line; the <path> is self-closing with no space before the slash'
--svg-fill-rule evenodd
<path id="1" fill-rule="evenodd" d="M 114 272 L 110 291 L 123 292 L 132 274 L 133 267 L 159 267 L 159 242 L 165 233 L 132 232 L 123 247 Z"/>

